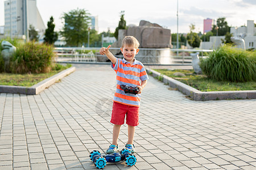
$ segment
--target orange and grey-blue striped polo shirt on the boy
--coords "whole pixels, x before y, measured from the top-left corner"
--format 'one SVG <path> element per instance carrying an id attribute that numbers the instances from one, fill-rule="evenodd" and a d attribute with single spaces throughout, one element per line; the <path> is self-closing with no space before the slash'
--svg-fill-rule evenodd
<path id="1" fill-rule="evenodd" d="M 125 58 L 117 58 L 115 65 L 112 63 L 111 66 L 115 73 L 117 73 L 117 90 L 115 90 L 113 101 L 139 107 L 141 104 L 141 94 L 125 94 L 120 85 L 141 86 L 141 81 L 148 79 L 143 64 L 136 59 L 131 64 Z"/>

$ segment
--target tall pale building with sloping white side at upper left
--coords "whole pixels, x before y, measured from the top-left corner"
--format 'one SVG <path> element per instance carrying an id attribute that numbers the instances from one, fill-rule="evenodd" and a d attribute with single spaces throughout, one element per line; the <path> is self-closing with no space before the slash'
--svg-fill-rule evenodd
<path id="1" fill-rule="evenodd" d="M 46 27 L 36 7 L 36 0 L 5 1 L 5 35 L 23 37 L 30 25 L 35 27 L 39 36 L 44 35 Z M 39 38 L 40 39 L 40 38 Z"/>

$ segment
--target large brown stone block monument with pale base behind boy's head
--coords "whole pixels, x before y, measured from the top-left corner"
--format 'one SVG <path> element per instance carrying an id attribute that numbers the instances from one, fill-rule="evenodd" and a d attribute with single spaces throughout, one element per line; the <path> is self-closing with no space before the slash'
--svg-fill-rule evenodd
<path id="1" fill-rule="evenodd" d="M 119 29 L 118 41 L 112 48 L 120 48 L 125 36 L 134 36 L 139 41 L 140 50 L 136 58 L 145 63 L 170 64 L 171 63 L 171 30 L 158 24 L 141 20 L 139 26 L 129 25 L 127 29 Z M 156 50 L 158 49 L 158 50 Z M 160 49 L 160 50 L 159 50 Z M 120 50 L 111 50 L 114 55 L 121 55 Z"/>

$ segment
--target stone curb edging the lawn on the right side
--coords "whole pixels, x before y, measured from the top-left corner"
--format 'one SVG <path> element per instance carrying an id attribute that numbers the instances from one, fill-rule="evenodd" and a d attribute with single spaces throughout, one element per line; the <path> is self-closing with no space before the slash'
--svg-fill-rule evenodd
<path id="1" fill-rule="evenodd" d="M 162 76 L 164 83 L 169 84 L 172 88 L 177 88 L 183 94 L 191 97 L 192 100 L 256 99 L 256 90 L 201 92 L 187 84 L 179 82 L 178 80 L 162 75 L 155 70 L 146 69 L 146 71 L 148 74 L 152 73 L 153 77 Z"/>

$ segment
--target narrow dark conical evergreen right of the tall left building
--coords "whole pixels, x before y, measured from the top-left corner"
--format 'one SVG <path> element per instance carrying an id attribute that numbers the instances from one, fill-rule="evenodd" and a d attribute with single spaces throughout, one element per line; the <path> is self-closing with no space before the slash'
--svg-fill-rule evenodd
<path id="1" fill-rule="evenodd" d="M 48 44 L 54 44 L 58 39 L 58 33 L 54 32 L 55 24 L 53 23 L 53 17 L 51 16 L 50 20 L 47 23 L 46 33 L 44 34 L 44 42 Z"/>

